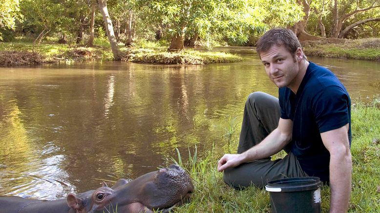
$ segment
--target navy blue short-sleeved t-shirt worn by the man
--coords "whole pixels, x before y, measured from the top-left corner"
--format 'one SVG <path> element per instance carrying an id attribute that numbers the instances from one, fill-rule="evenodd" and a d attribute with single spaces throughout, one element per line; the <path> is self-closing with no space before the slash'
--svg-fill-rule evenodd
<path id="1" fill-rule="evenodd" d="M 329 181 L 330 153 L 320 133 L 343 127 L 351 146 L 351 100 L 347 90 L 328 69 L 311 63 L 297 94 L 279 88 L 281 118 L 293 121 L 292 149 L 302 170 L 321 181 Z"/>

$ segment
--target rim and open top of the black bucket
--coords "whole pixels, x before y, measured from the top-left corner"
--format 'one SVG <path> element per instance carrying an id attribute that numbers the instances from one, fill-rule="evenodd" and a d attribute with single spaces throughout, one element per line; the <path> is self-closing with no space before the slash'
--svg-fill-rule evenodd
<path id="1" fill-rule="evenodd" d="M 299 192 L 315 190 L 320 186 L 319 177 L 291 177 L 269 181 L 265 190 L 268 192 Z"/>

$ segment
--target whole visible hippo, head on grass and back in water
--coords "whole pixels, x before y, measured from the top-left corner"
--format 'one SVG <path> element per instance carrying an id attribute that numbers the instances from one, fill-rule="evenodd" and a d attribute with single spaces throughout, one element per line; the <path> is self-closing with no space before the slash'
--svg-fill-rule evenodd
<path id="1" fill-rule="evenodd" d="M 37 200 L 0 196 L 1 213 L 152 213 L 169 212 L 187 200 L 194 190 L 189 174 L 178 165 L 144 174 L 130 182 L 117 181 L 112 188 L 102 187 L 69 193 L 66 199 Z"/>

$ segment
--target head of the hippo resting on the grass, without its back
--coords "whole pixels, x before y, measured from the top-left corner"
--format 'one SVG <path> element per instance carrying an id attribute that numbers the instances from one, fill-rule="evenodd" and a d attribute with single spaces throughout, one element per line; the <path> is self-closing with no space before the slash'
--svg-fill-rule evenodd
<path id="1" fill-rule="evenodd" d="M 109 188 L 78 196 L 70 193 L 67 205 L 77 213 L 139 213 L 169 210 L 187 200 L 194 190 L 189 174 L 178 165 L 144 174 L 130 182 L 121 179 Z"/>

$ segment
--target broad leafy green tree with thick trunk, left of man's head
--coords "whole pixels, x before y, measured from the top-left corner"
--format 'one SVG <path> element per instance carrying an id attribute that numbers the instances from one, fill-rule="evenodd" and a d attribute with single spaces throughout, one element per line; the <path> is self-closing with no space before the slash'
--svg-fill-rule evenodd
<path id="1" fill-rule="evenodd" d="M 287 0 L 140 0 L 139 5 L 148 10 L 146 20 L 168 26 L 169 50 L 183 49 L 185 37 L 195 33 L 206 41 L 224 37 L 245 43 L 250 33 L 263 32 L 270 26 L 266 20 L 281 17 L 276 25 L 284 26 L 301 19 L 302 13 L 298 5 Z"/>

